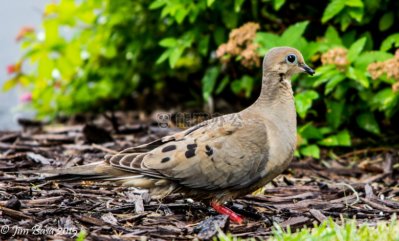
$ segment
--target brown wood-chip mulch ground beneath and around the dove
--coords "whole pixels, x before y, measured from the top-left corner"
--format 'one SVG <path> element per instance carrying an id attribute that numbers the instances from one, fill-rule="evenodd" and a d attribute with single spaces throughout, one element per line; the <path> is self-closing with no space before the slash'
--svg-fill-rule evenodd
<path id="1" fill-rule="evenodd" d="M 131 187 L 15 180 L 27 177 L 17 171 L 100 161 L 178 130 L 131 115 L 134 121 L 115 118 L 127 123 L 118 126 L 118 134 L 112 131 L 112 118 L 62 125 L 21 121 L 23 132 L 0 132 L 0 239 L 76 240 L 85 229 L 88 240 L 202 240 L 217 235 L 214 223 L 236 237 L 267 238 L 273 235 L 273 223 L 293 231 L 328 217 L 337 224 L 356 217 L 359 223 L 376 225 L 390 222 L 399 211 L 399 158 L 390 148 L 342 156 L 331 152 L 323 161 L 295 158 L 260 194 L 226 204 L 248 217 L 244 224 L 230 223 L 209 201 L 181 194 L 160 200 Z"/>

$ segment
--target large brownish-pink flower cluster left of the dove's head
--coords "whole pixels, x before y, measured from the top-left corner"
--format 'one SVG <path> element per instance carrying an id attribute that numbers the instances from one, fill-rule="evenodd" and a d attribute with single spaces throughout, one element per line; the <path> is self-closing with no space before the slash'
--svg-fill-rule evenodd
<path id="1" fill-rule="evenodd" d="M 260 56 L 255 51 L 258 45 L 252 42 L 259 29 L 260 26 L 256 23 L 247 23 L 238 29 L 233 29 L 229 35 L 229 41 L 217 49 L 217 58 L 223 64 L 227 64 L 231 57 L 239 56 L 244 67 L 248 69 L 252 69 L 253 65 L 259 67 Z"/>

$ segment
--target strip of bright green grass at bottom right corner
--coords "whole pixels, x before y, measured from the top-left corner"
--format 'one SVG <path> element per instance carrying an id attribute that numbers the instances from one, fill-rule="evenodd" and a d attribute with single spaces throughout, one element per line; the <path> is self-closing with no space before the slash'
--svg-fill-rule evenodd
<path id="1" fill-rule="evenodd" d="M 356 220 L 344 222 L 342 225 L 329 219 L 329 222 L 323 222 L 320 226 L 315 224 L 314 228 L 297 229 L 295 233 L 291 232 L 290 227 L 284 231 L 281 226 L 274 224 L 274 235 L 268 241 L 299 241 L 299 240 L 315 240 L 315 241 L 367 241 L 367 240 L 381 240 L 381 241 L 397 241 L 399 240 L 399 225 L 396 222 L 396 215 L 392 216 L 391 223 L 380 222 L 377 226 L 368 226 L 367 223 L 361 224 L 359 227 Z M 216 239 L 216 237 L 214 238 Z M 221 241 L 239 241 L 239 240 L 255 240 L 240 239 L 233 237 L 231 234 L 225 234 L 219 229 L 218 239 Z"/>

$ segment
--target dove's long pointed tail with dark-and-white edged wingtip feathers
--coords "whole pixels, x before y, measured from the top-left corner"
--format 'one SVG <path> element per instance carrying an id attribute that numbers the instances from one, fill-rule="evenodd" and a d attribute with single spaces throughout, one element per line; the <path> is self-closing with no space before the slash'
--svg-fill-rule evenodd
<path id="1" fill-rule="evenodd" d="M 172 138 L 170 139 L 172 140 Z M 149 151 L 168 140 L 157 140 L 138 147 L 131 147 L 117 155 L 106 155 L 104 161 L 76 167 L 20 171 L 22 174 L 47 173 L 47 177 L 20 178 L 17 181 L 76 182 L 95 181 L 101 184 L 118 184 L 150 189 L 157 195 L 168 195 L 178 189 L 178 179 L 168 177 L 156 169 L 144 165 L 144 157 Z M 51 175 L 53 174 L 53 175 Z"/>

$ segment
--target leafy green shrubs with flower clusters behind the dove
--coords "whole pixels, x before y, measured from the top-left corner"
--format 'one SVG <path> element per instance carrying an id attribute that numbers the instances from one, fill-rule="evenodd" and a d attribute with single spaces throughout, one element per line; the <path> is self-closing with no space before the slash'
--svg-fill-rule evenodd
<path id="1" fill-rule="evenodd" d="M 25 54 L 3 89 L 24 85 L 39 118 L 181 102 L 239 110 L 258 97 L 262 56 L 291 46 L 316 71 L 292 79 L 296 155 L 319 158 L 320 146 L 397 141 L 397 26 L 395 0 L 61 0 L 42 29 L 21 29 Z"/>

